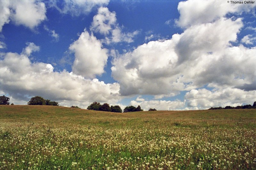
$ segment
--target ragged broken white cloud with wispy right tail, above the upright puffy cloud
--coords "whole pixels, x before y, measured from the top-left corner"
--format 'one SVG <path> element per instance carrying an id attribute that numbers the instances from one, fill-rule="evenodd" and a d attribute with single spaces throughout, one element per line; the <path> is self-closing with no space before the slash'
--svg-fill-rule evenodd
<path id="1" fill-rule="evenodd" d="M 93 17 L 90 29 L 93 32 L 104 34 L 107 44 L 122 41 L 131 43 L 133 38 L 139 34 L 138 30 L 131 33 L 123 33 L 122 28 L 117 23 L 116 12 L 110 12 L 107 7 L 98 9 L 97 15 Z"/>

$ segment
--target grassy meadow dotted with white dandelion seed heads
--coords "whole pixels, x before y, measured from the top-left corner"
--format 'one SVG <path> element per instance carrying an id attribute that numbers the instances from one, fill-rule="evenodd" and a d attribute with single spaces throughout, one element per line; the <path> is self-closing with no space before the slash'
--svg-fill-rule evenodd
<path id="1" fill-rule="evenodd" d="M 0 169 L 256 169 L 256 109 L 0 105 Z"/>

